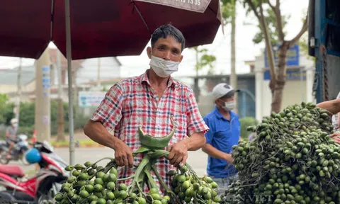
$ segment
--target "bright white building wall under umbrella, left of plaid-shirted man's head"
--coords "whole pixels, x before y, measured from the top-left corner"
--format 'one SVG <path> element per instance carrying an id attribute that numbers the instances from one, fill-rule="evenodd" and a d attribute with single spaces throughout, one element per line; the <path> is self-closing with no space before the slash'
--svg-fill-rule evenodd
<path id="1" fill-rule="evenodd" d="M 120 64 L 115 57 L 101 57 L 100 80 L 120 78 Z M 76 83 L 84 84 L 98 79 L 98 58 L 86 59 L 78 69 Z"/>

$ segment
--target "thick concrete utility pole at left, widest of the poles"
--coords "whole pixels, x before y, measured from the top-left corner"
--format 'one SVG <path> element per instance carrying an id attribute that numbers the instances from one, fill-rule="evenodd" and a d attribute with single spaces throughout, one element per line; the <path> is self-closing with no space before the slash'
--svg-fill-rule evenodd
<path id="1" fill-rule="evenodd" d="M 50 141 L 50 55 L 48 48 L 35 62 L 35 130 L 37 141 Z"/>

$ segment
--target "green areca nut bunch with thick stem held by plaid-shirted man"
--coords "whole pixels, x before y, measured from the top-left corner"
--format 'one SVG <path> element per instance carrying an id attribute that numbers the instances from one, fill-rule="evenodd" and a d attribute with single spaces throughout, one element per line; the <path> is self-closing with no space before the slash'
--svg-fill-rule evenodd
<path id="1" fill-rule="evenodd" d="M 162 177 L 156 168 L 157 159 L 168 157 L 169 152 L 163 150 L 168 146 L 171 137 L 175 132 L 174 120 L 173 130 L 164 137 L 152 137 L 139 128 L 139 137 L 142 147 L 137 149 L 132 155 L 143 154 L 142 162 L 137 166 L 135 174 L 128 178 L 118 179 L 117 164 L 114 158 L 106 166 L 97 166 L 98 162 L 91 164 L 86 162 L 84 165 L 67 166 L 65 170 L 72 171 L 72 176 L 67 183 L 62 184 L 62 190 L 57 193 L 55 200 L 60 204 L 84 203 L 84 204 L 166 204 L 166 203 L 217 203 L 213 200 L 220 200 L 216 196 L 217 184 L 210 178 L 199 179 L 196 173 L 188 164 L 181 166 L 181 174 L 177 171 L 170 171 L 173 175 L 172 183 L 179 186 L 173 186 L 175 193 L 164 183 Z M 165 189 L 161 192 L 154 181 L 151 171 L 157 176 L 159 183 Z M 185 176 L 184 176 L 185 175 Z M 182 182 L 183 176 L 185 181 Z M 132 179 L 129 186 L 124 183 L 118 185 L 118 181 Z M 199 188 L 197 188 L 199 185 Z M 148 191 L 145 192 L 145 186 Z M 185 189 L 186 188 L 186 189 Z M 197 188 L 197 189 L 196 189 Z M 188 189 L 193 189 L 190 191 Z M 183 197 L 183 193 L 186 196 Z M 183 197 L 183 198 L 182 198 Z M 191 200 L 188 200 L 191 198 Z"/>

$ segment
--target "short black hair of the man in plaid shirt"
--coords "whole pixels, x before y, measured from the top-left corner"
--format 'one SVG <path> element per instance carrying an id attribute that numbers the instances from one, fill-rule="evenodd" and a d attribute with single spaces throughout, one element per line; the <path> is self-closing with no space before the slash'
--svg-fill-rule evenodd
<path id="1" fill-rule="evenodd" d="M 154 43 L 157 42 L 159 38 L 166 38 L 168 36 L 174 37 L 179 43 L 182 45 L 182 52 L 184 48 L 186 48 L 186 38 L 184 38 L 183 34 L 179 29 L 172 26 L 170 23 L 163 25 L 156 30 L 154 30 L 154 33 L 152 33 L 151 36 L 151 47 L 154 47 Z"/>

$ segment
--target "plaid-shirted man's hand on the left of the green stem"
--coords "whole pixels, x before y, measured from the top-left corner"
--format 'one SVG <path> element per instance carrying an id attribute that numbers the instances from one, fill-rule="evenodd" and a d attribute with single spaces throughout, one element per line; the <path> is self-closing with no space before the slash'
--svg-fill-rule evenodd
<path id="1" fill-rule="evenodd" d="M 132 150 L 122 140 L 116 140 L 115 147 L 115 162 L 118 166 L 133 167 Z"/>

